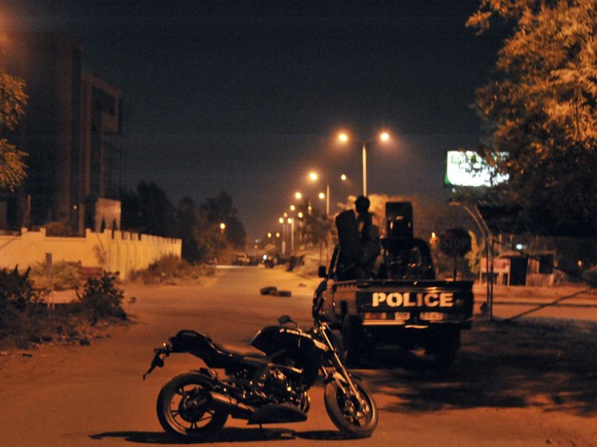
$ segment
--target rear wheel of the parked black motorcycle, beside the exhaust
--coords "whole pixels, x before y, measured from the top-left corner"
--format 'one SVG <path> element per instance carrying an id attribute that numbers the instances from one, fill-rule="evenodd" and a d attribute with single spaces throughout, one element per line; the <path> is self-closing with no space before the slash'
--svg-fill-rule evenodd
<path id="1" fill-rule="evenodd" d="M 156 410 L 159 424 L 167 433 L 186 437 L 207 437 L 220 430 L 227 412 L 210 407 L 210 383 L 198 373 L 175 375 L 162 387 Z"/>

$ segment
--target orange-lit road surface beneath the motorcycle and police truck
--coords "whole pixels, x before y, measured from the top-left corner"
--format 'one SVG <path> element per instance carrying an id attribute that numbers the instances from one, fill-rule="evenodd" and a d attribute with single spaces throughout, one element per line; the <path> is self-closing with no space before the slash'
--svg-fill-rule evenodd
<path id="1" fill-rule="evenodd" d="M 136 315 L 134 324 L 111 329 L 112 337 L 93 340 L 91 346 L 44 347 L 31 358 L 0 363 L 0 446 L 173 443 L 156 420 L 155 399 L 172 375 L 198 363 L 191 356 L 171 356 L 165 368 L 143 382 L 141 374 L 152 348 L 181 328 L 190 328 L 233 349 L 247 350 L 254 333 L 282 313 L 308 325 L 315 284 L 278 269 L 237 268 L 221 269 L 216 280 L 206 280 L 202 286 L 128 285 L 127 297 L 137 297 L 130 309 Z M 293 296 L 260 296 L 258 290 L 265 285 L 289 288 Z M 549 440 L 556 445 L 597 445 L 596 409 L 587 403 L 595 396 L 582 393 L 580 385 L 568 386 L 565 391 L 573 398 L 553 403 L 549 400 L 553 387 L 544 383 L 549 379 L 540 376 L 536 360 L 510 359 L 513 366 L 504 370 L 499 365 L 501 354 L 492 350 L 485 355 L 473 335 L 464 337 L 463 352 L 449 377 L 439 377 L 423 363 L 390 351 L 376 354 L 383 367 L 358 371 L 373 387 L 381 409 L 378 429 L 370 439 L 338 439 L 325 413 L 321 386 L 316 386 L 306 422 L 272 426 L 262 433 L 243 421 L 229 420 L 216 442 L 542 446 Z M 534 384 L 537 377 L 541 380 Z M 587 377 L 576 374 L 573 379 Z M 531 383 L 535 388 L 528 395 Z M 571 399 L 582 406 L 579 411 L 566 406 Z"/>

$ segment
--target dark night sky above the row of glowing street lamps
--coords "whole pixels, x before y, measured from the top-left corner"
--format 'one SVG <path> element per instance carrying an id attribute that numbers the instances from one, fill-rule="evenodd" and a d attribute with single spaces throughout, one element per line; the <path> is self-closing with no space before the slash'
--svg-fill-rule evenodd
<path id="1" fill-rule="evenodd" d="M 311 168 L 333 202 L 361 191 L 340 127 L 392 132 L 368 147 L 370 193 L 447 197 L 444 152 L 478 141 L 469 104 L 499 46 L 464 27 L 477 3 L 0 0 L 0 25 L 72 33 L 85 69 L 122 89 L 130 187 L 153 180 L 175 203 L 226 190 L 255 238 L 294 191 L 325 188 Z"/>

